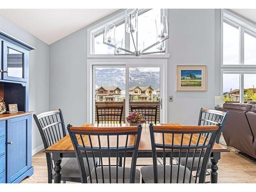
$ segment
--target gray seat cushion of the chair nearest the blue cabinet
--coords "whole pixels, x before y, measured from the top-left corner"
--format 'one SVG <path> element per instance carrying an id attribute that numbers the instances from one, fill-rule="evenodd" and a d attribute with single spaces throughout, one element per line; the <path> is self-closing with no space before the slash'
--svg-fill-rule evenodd
<path id="1" fill-rule="evenodd" d="M 86 158 L 83 158 L 83 163 L 86 167 L 86 174 L 89 176 L 89 167 Z M 93 158 L 89 158 L 89 166 L 91 171 L 94 168 Z M 63 158 L 60 173 L 62 181 L 81 182 L 79 166 L 76 158 Z M 52 170 L 52 174 L 55 174 L 54 170 Z"/>

